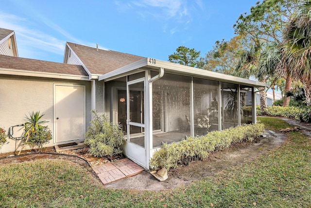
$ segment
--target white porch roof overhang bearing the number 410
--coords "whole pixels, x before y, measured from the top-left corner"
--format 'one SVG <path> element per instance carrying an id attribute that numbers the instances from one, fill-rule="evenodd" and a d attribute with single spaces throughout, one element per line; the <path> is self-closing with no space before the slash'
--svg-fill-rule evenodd
<path id="1" fill-rule="evenodd" d="M 237 77 L 237 76 L 224 75 L 224 74 L 211 72 L 211 71 L 207 71 L 203 69 L 197 69 L 197 68 L 190 67 L 190 66 L 162 61 L 162 60 L 158 60 L 158 59 L 150 58 L 150 57 L 146 57 L 132 64 L 129 64 L 127 66 L 116 69 L 112 72 L 109 72 L 105 75 L 99 76 L 98 79 L 109 81 L 109 80 L 116 79 L 121 76 L 133 74 L 134 70 L 136 73 L 136 72 L 143 71 L 143 70 L 158 71 L 159 68 L 164 68 L 164 72 L 170 73 L 170 74 L 201 77 L 201 78 L 207 78 L 207 79 L 218 80 L 218 81 L 223 81 L 223 82 L 243 84 L 243 85 L 248 85 L 248 86 L 253 86 L 253 87 L 268 87 L 268 84 L 263 83 L 263 82 L 244 79 L 244 78 Z"/>

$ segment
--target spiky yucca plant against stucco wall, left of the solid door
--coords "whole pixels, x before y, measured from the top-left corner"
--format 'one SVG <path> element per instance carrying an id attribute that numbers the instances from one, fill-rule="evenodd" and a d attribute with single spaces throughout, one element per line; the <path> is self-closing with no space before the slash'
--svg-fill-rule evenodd
<path id="1" fill-rule="evenodd" d="M 20 152 L 24 149 L 26 144 L 29 144 L 29 138 L 34 137 L 37 132 L 43 131 L 44 128 L 47 128 L 43 126 L 42 124 L 47 123 L 48 121 L 41 120 L 42 116 L 44 114 L 40 115 L 40 111 L 37 112 L 31 112 L 29 113 L 29 117 L 26 115 L 25 119 L 26 122 L 24 124 L 24 146 L 20 149 L 17 155 L 20 154 Z M 50 138 L 51 139 L 51 138 Z"/>

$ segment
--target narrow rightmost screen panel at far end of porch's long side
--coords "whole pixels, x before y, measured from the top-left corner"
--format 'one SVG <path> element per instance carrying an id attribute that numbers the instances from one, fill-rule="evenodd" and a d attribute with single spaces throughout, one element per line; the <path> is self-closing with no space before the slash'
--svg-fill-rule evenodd
<path id="1" fill-rule="evenodd" d="M 253 122 L 252 93 L 251 87 L 241 86 L 241 124 L 251 124 Z"/>

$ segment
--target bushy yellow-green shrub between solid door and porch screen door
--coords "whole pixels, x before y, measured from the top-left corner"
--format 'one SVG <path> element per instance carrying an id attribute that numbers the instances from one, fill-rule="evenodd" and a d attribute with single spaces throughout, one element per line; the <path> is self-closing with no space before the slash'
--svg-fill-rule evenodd
<path id="1" fill-rule="evenodd" d="M 124 141 L 124 133 L 121 125 L 110 123 L 104 114 L 92 110 L 93 120 L 86 132 L 85 143 L 89 146 L 89 152 L 97 157 L 112 156 L 122 153 L 121 145 Z"/>

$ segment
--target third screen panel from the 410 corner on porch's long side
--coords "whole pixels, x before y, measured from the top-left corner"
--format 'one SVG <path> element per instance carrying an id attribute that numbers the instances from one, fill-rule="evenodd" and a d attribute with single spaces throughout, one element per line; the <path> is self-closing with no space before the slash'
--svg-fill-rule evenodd
<path id="1" fill-rule="evenodd" d="M 238 87 L 237 84 L 221 82 L 222 129 L 238 126 Z"/>

